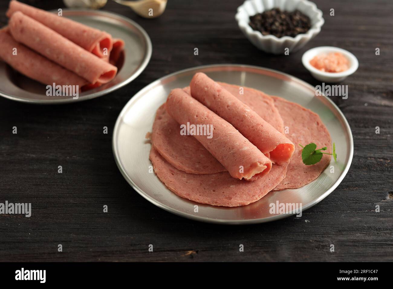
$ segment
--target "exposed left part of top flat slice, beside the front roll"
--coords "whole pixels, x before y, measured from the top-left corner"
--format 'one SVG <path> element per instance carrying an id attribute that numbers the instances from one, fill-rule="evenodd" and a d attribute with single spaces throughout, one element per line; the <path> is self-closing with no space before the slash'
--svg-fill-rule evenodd
<path id="1" fill-rule="evenodd" d="M 226 171 L 196 138 L 180 134 L 180 125 L 168 114 L 165 103 L 156 112 L 151 142 L 167 162 L 187 173 Z"/>

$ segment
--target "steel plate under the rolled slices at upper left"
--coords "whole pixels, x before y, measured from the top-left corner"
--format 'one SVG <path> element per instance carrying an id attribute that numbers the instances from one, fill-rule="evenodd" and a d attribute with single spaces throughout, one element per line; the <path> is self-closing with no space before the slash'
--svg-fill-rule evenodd
<path id="1" fill-rule="evenodd" d="M 57 11 L 56 11 L 57 13 Z M 59 104 L 96 98 L 108 94 L 135 79 L 149 63 L 152 46 L 149 35 L 134 21 L 121 15 L 97 10 L 63 9 L 63 17 L 68 17 L 88 26 L 107 31 L 114 38 L 125 42 L 125 50 L 117 64 L 118 74 L 105 85 L 72 96 L 46 96 L 46 86 L 16 72 L 0 61 L 0 95 L 9 99 L 40 104 Z"/>

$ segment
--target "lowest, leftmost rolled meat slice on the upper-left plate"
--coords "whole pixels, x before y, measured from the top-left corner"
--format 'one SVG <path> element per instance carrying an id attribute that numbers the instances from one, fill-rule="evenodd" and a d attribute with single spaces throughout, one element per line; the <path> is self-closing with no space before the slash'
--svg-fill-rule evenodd
<path id="1" fill-rule="evenodd" d="M 0 58 L 21 74 L 45 85 L 56 83 L 82 88 L 87 84 L 86 79 L 15 41 L 6 29 L 0 29 Z"/>

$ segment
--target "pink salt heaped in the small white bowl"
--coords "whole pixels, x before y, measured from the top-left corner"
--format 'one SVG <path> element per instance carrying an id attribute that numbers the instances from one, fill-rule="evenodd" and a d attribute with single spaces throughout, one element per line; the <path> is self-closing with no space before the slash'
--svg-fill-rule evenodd
<path id="1" fill-rule="evenodd" d="M 324 72 L 343 72 L 349 68 L 348 59 L 340 52 L 316 55 L 310 64 Z"/>

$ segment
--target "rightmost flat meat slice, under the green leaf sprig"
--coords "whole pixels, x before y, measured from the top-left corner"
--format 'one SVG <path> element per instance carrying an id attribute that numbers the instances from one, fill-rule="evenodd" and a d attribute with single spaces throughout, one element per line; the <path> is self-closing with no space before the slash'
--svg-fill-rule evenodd
<path id="1" fill-rule="evenodd" d="M 318 178 L 322 171 L 329 165 L 331 156 L 323 155 L 320 162 L 306 166 L 301 159 L 301 145 L 315 143 L 318 148 L 327 147 L 331 153 L 332 141 L 329 131 L 322 123 L 318 114 L 305 109 L 297 103 L 287 101 L 277 96 L 272 96 L 274 105 L 283 118 L 284 125 L 289 128 L 288 138 L 296 144 L 285 179 L 275 190 L 295 189 L 308 184 Z"/>

